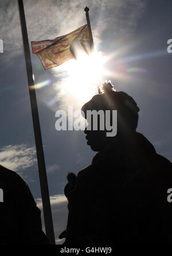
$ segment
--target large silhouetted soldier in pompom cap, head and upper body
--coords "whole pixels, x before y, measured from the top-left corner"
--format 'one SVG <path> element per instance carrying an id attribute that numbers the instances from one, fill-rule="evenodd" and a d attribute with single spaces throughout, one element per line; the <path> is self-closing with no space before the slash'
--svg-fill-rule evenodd
<path id="1" fill-rule="evenodd" d="M 88 145 L 99 153 L 73 187 L 65 187 L 65 244 L 172 243 L 172 205 L 167 201 L 171 162 L 136 132 L 139 108 L 134 99 L 113 91 L 111 83 L 104 83 L 103 90 L 82 110 L 86 118 L 87 110 L 117 110 L 118 131 L 107 137 L 107 130 L 85 130 Z"/>

